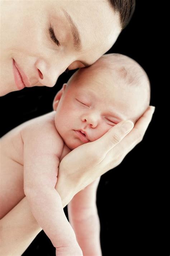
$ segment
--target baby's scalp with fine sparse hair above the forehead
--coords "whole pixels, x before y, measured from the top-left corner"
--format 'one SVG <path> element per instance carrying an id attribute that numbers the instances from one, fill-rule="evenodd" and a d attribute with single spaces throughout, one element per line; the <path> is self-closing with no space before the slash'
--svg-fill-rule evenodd
<path id="1" fill-rule="evenodd" d="M 90 67 L 80 68 L 76 71 L 69 79 L 68 84 L 81 78 L 84 72 L 88 75 L 90 70 L 100 71 L 101 76 L 106 73 L 117 77 L 118 81 L 122 81 L 122 86 L 139 87 L 141 90 L 146 90 L 147 96 L 143 103 L 145 108 L 150 104 L 151 86 L 149 78 L 144 69 L 134 59 L 119 53 L 104 54 Z"/>

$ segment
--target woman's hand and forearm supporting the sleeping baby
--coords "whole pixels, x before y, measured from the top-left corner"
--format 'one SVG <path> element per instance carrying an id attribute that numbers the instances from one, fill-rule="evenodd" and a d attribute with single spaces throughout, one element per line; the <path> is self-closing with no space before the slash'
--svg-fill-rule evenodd
<path id="1" fill-rule="evenodd" d="M 62 159 L 59 166 L 56 189 L 60 194 L 63 207 L 66 206 L 82 188 L 85 188 L 96 180 L 96 178 L 119 165 L 124 156 L 141 142 L 152 119 L 154 110 L 155 107 L 148 107 L 146 112 L 136 122 L 131 132 L 124 133 L 123 130 L 120 129 L 124 122 L 121 122 L 110 129 L 100 139 L 91 142 L 90 144 L 94 148 L 99 148 L 98 145 L 101 143 L 104 147 L 98 151 L 97 155 L 94 155 L 93 161 L 91 161 L 91 164 L 89 163 L 86 169 L 84 169 L 84 155 L 88 154 L 91 157 L 93 153 L 93 151 L 89 151 L 89 149 L 91 150 L 89 143 L 81 145 L 81 151 L 79 150 L 78 152 L 79 158 L 77 158 L 77 149 L 75 149 Z M 110 140 L 110 138 L 112 138 L 112 140 Z M 80 154 L 80 152 L 82 153 Z M 71 161 L 72 157 L 76 159 L 75 162 Z M 77 166 L 79 166 L 79 169 L 77 169 Z M 81 172 L 80 166 L 82 166 Z M 65 172 L 60 172 L 60 170 L 64 170 Z M 69 181 L 66 183 L 65 181 L 68 180 L 68 178 Z M 77 184 L 77 180 L 81 182 Z M 78 194 L 76 196 L 78 196 Z M 19 212 L 22 214 L 22 218 Z M 14 228 L 11 229 L 11 226 Z M 13 255 L 22 254 L 29 246 L 30 242 L 33 241 L 36 235 L 42 230 L 30 211 L 26 197 L 1 219 L 1 227 L 1 237 L 2 241 L 4 241 L 1 246 L 1 252 L 4 253 L 4 255 L 10 255 L 11 253 L 13 253 Z M 7 235 L 8 237 L 10 235 L 10 244 L 8 243 L 8 246 L 5 242 Z"/>

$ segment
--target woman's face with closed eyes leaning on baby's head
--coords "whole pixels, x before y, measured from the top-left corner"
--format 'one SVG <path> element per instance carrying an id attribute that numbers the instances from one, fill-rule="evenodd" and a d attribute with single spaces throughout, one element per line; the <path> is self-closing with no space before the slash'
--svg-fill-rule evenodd
<path id="1" fill-rule="evenodd" d="M 54 86 L 67 68 L 94 63 L 121 32 L 118 14 L 103 0 L 1 1 L 0 29 L 1 96 L 23 89 L 22 80 Z"/>

